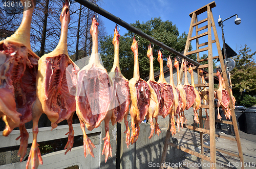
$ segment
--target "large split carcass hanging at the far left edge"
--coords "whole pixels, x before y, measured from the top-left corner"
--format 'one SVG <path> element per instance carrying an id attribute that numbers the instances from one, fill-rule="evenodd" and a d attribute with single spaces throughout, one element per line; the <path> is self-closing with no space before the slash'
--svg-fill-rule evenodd
<path id="1" fill-rule="evenodd" d="M 31 8 L 26 6 L 28 2 L 31 3 Z M 39 59 L 30 46 L 30 26 L 35 1 L 23 0 L 22 3 L 22 23 L 12 36 L 0 41 L 0 118 L 6 123 L 4 136 L 19 127 L 20 136 L 16 139 L 20 138 L 20 161 L 27 153 L 29 134 L 25 124 L 32 120 Z"/>

